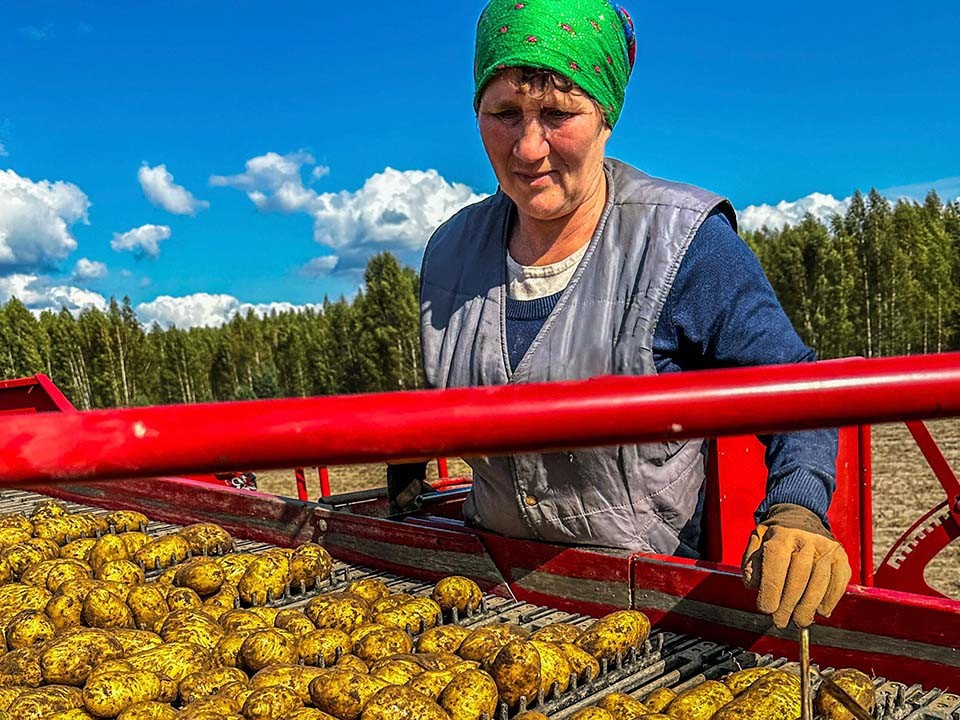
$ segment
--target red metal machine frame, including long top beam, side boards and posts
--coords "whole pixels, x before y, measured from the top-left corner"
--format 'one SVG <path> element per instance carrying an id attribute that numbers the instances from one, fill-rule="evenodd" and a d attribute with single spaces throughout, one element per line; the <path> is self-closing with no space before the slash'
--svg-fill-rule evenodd
<path id="1" fill-rule="evenodd" d="M 38 378 L 37 384 L 43 382 Z M 0 402 L 3 407 L 10 409 Z M 760 462 L 756 447 L 731 437 L 843 426 L 831 518 L 859 583 L 831 618 L 814 626 L 814 659 L 958 691 L 960 602 L 930 594 L 925 583 L 911 587 L 913 592 L 891 589 L 915 582 L 916 568 L 922 570 L 916 559 L 911 567 L 909 552 L 891 559 L 896 548 L 871 578 L 869 431 L 861 427 L 910 421 L 947 492 L 933 515 L 911 529 L 919 538 L 914 546 L 931 537 L 942 544 L 960 535 L 960 483 L 922 424 L 913 421 L 956 416 L 960 354 L 544 386 L 10 415 L 0 425 L 0 485 L 55 483 L 38 489 L 104 507 L 137 508 L 162 520 L 213 520 L 240 536 L 283 545 L 322 538 L 347 561 L 424 579 L 455 569 L 493 592 L 575 612 L 638 607 L 666 629 L 795 657 L 794 633 L 776 630 L 756 611 L 735 564 L 762 493 L 756 482 L 717 483 L 719 510 L 708 532 L 720 543 L 720 562 L 693 562 L 467 528 L 459 520 L 458 492 L 436 494 L 416 515 L 385 518 L 384 498 L 336 507 L 164 476 L 719 436 L 713 457 L 723 478 L 725 464 L 742 470 L 745 463 Z M 930 524 L 931 517 L 937 524 Z"/>

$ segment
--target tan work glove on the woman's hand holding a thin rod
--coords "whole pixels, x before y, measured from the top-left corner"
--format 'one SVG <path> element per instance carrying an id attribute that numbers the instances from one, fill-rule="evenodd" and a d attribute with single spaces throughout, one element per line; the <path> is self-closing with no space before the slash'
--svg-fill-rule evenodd
<path id="1" fill-rule="evenodd" d="M 743 582 L 759 588 L 757 609 L 785 628 L 813 622 L 814 611 L 829 617 L 850 582 L 843 546 L 819 517 L 800 505 L 774 505 L 750 535 L 743 554 Z"/>

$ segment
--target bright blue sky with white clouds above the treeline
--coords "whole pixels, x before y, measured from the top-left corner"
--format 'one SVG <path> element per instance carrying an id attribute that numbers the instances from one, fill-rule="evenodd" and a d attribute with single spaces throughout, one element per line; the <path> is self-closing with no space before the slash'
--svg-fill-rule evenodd
<path id="1" fill-rule="evenodd" d="M 0 0 L 0 300 L 129 295 L 193 324 L 349 295 L 380 249 L 416 264 L 496 188 L 482 6 Z M 764 218 L 871 186 L 960 194 L 957 3 L 626 6 L 609 154 Z"/>

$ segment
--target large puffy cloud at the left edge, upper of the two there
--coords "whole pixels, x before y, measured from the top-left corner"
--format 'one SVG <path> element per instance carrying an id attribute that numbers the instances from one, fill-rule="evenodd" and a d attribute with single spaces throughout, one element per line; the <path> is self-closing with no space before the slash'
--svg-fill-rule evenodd
<path id="1" fill-rule="evenodd" d="M 77 247 L 70 226 L 87 223 L 90 201 L 80 188 L 58 180 L 34 182 L 0 170 L 0 269 L 53 267 Z"/>

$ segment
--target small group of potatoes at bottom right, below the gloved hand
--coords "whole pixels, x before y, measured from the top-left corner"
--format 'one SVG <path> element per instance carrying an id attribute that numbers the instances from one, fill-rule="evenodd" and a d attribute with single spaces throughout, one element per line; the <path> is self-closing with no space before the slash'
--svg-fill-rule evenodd
<path id="1" fill-rule="evenodd" d="M 876 697 L 869 676 L 843 669 L 830 677 L 865 710 L 873 712 Z M 853 718 L 824 687 L 817 693 L 815 711 L 824 720 Z M 796 720 L 800 715 L 800 678 L 785 670 L 755 667 L 731 673 L 723 682 L 707 680 L 679 694 L 657 688 L 642 702 L 610 693 L 574 713 L 570 720 Z M 526 712 L 514 720 L 546 720 L 546 716 Z"/>

